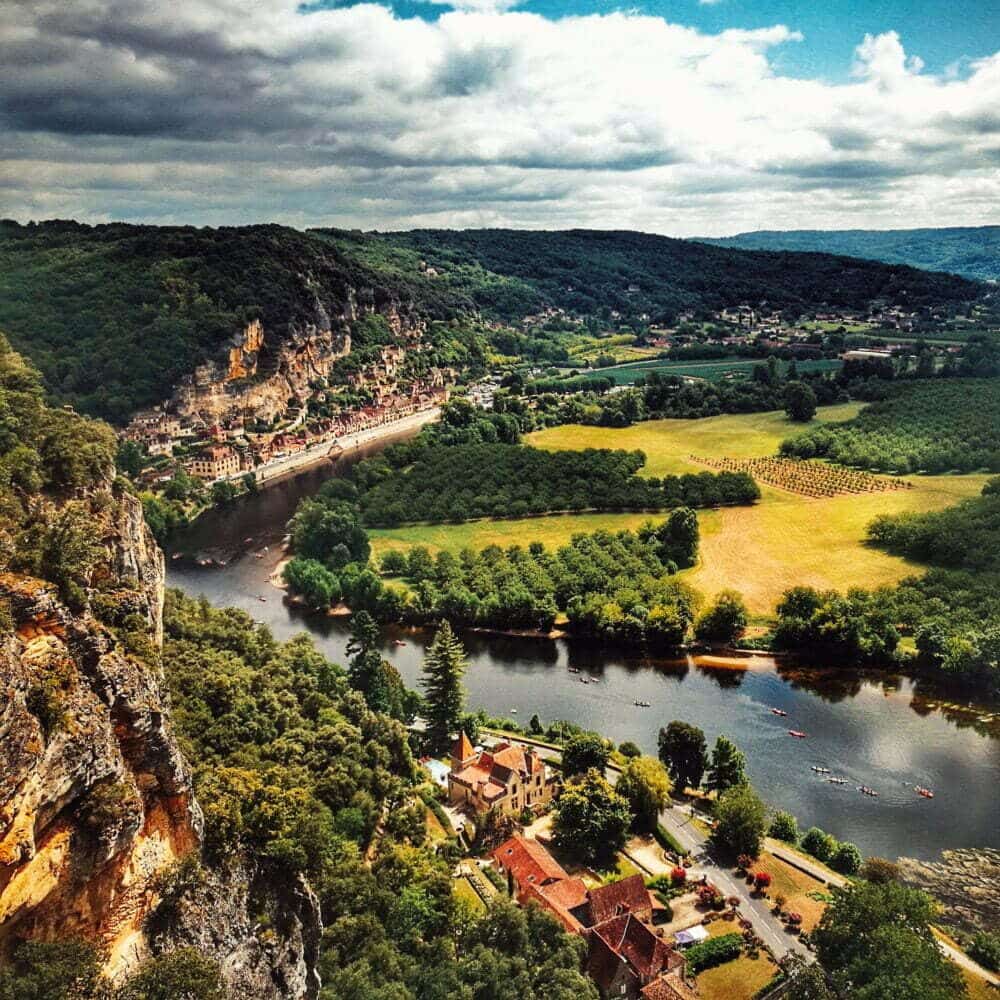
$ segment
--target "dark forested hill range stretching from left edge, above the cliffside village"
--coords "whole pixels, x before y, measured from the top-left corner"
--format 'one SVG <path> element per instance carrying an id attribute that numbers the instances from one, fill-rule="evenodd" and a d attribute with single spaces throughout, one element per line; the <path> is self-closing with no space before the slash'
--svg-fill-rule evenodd
<path id="1" fill-rule="evenodd" d="M 51 396 L 114 421 L 165 399 L 250 319 L 269 341 L 360 311 L 513 322 L 556 306 L 671 321 L 684 309 L 961 303 L 983 286 L 829 255 L 634 232 L 300 232 L 284 226 L 0 222 L 0 332 Z"/>

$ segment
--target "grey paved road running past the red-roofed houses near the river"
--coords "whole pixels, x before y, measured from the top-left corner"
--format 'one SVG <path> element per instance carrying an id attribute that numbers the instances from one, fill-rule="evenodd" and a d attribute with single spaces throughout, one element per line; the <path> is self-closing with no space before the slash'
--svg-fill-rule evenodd
<path id="1" fill-rule="evenodd" d="M 491 734 L 499 736 L 500 734 Z M 558 749 L 544 743 L 525 738 L 504 736 L 512 743 L 534 746 L 543 760 L 558 759 Z M 611 784 L 618 780 L 620 770 L 615 766 L 607 769 L 606 776 Z M 740 912 L 753 924 L 757 936 L 774 953 L 775 958 L 783 958 L 793 951 L 812 960 L 812 953 L 798 939 L 788 934 L 784 925 L 771 913 L 767 903 L 755 898 L 743 879 L 736 878 L 728 869 L 720 865 L 709 851 L 708 838 L 692 822 L 691 816 L 677 806 L 669 806 L 660 813 L 660 822 L 675 837 L 682 847 L 695 859 L 693 873 L 704 874 L 716 885 L 724 896 L 736 896 L 740 900 Z"/>

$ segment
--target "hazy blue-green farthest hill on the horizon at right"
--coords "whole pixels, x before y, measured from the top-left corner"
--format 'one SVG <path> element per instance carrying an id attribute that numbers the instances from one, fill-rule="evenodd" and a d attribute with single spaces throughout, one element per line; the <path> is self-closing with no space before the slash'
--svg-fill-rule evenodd
<path id="1" fill-rule="evenodd" d="M 699 243 L 740 250 L 801 250 L 845 254 L 978 281 L 1000 281 L 1000 226 L 952 229 L 762 229 Z"/>

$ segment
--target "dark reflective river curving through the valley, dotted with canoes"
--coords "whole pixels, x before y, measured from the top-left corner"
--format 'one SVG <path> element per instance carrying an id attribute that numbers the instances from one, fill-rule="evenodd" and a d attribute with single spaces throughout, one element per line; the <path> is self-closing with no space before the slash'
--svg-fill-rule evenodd
<path id="1" fill-rule="evenodd" d="M 269 577 L 298 500 L 372 450 L 359 449 L 335 466 L 199 518 L 175 543 L 180 555 L 168 560 L 168 584 L 218 606 L 242 608 L 279 639 L 308 631 L 330 659 L 344 663 L 343 620 L 304 614 Z M 208 554 L 226 565 L 198 565 L 197 558 Z M 430 638 L 415 630 L 385 636 L 383 655 L 409 686 L 418 684 Z M 569 719 L 653 754 L 660 727 L 683 719 L 704 729 L 710 741 L 722 733 L 735 740 L 747 755 L 753 784 L 774 807 L 794 813 L 803 828 L 820 826 L 854 841 L 865 854 L 929 859 L 946 848 L 1000 847 L 1000 725 L 996 718 L 992 725 L 987 721 L 989 709 L 945 705 L 909 679 L 849 667 L 791 668 L 759 657 L 734 669 L 705 659 L 645 660 L 572 639 L 463 638 L 472 709 L 516 712 L 522 724 L 533 713 L 543 722 Z M 771 708 L 788 714 L 776 716 Z M 789 729 L 807 738 L 790 737 Z M 813 765 L 830 768 L 848 784 L 828 782 L 810 770 Z M 878 798 L 860 794 L 862 784 Z M 933 789 L 934 799 L 917 795 L 915 786 Z"/>

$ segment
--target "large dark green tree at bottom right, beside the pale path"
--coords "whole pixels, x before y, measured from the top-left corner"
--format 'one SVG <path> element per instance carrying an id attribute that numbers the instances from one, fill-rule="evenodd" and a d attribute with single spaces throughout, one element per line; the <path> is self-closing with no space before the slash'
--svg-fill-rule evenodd
<path id="1" fill-rule="evenodd" d="M 965 995 L 961 974 L 931 933 L 935 904 L 926 893 L 856 882 L 831 897 L 812 939 L 838 992 L 862 1000 Z"/>

